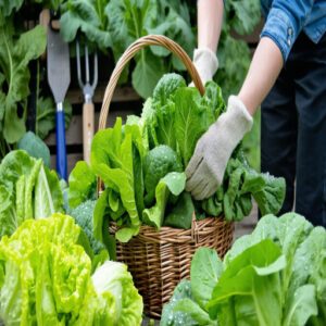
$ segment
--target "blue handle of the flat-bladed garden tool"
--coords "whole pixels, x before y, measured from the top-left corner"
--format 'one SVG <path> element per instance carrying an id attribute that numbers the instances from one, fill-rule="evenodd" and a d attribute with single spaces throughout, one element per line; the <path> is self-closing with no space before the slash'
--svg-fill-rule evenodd
<path id="1" fill-rule="evenodd" d="M 60 177 L 67 179 L 66 172 L 66 150 L 65 150 L 65 128 L 64 128 L 64 111 L 62 104 L 58 103 L 57 108 L 57 172 Z"/>

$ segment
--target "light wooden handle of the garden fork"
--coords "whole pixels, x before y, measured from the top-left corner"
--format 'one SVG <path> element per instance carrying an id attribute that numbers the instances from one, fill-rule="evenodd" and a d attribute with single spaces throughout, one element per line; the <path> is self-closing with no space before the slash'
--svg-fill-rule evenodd
<path id="1" fill-rule="evenodd" d="M 83 105 L 83 151 L 84 161 L 90 163 L 90 145 L 93 137 L 93 103 L 85 102 Z"/>

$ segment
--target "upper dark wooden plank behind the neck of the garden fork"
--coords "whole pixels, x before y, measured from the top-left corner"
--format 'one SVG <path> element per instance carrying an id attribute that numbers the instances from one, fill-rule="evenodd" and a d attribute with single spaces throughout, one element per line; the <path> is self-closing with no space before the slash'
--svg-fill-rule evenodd
<path id="1" fill-rule="evenodd" d="M 92 101 L 95 103 L 102 103 L 106 85 L 100 84 L 97 86 Z M 72 104 L 79 104 L 84 102 L 84 96 L 80 88 L 70 89 L 67 91 L 66 98 Z M 139 95 L 134 90 L 133 87 L 117 87 L 114 91 L 112 102 L 128 102 L 138 101 L 140 99 Z"/>

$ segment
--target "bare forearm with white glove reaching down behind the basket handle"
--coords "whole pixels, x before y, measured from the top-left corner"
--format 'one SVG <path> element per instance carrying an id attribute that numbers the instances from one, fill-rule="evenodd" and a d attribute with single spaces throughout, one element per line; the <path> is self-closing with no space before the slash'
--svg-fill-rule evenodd
<path id="1" fill-rule="evenodd" d="M 223 0 L 198 0 L 198 48 L 193 64 L 203 84 L 212 80 L 218 67 L 216 57 L 223 23 Z"/>

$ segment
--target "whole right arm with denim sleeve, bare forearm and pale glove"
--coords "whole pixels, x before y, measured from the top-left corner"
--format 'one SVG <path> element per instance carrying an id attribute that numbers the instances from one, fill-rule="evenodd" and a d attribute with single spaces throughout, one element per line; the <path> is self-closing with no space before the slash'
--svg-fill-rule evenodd
<path id="1" fill-rule="evenodd" d="M 273 87 L 313 3 L 313 0 L 273 1 L 240 92 L 229 97 L 226 112 L 199 139 L 186 167 L 186 190 L 195 199 L 211 197 L 222 184 L 234 149 L 251 129 L 251 115 Z"/>

